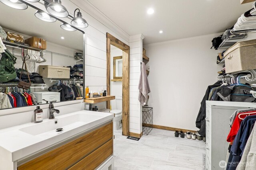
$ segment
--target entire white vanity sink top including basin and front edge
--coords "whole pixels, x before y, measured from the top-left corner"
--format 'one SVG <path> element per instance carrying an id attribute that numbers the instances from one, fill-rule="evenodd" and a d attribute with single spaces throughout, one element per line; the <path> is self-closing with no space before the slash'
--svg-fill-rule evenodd
<path id="1" fill-rule="evenodd" d="M 55 119 L 44 119 L 41 123 L 26 123 L 2 129 L 0 156 L 11 156 L 12 161 L 24 158 L 80 133 L 86 133 L 113 118 L 114 114 L 111 113 L 82 110 L 64 115 L 55 114 Z M 54 123 L 56 120 L 57 124 Z M 63 128 L 63 131 L 56 132 L 57 128 Z"/>

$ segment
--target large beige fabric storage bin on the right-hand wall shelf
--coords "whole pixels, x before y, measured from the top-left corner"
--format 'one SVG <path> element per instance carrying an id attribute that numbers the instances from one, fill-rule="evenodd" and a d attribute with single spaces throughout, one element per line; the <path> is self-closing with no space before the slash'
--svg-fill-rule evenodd
<path id="1" fill-rule="evenodd" d="M 256 69 L 256 39 L 236 43 L 224 57 L 226 73 Z"/>

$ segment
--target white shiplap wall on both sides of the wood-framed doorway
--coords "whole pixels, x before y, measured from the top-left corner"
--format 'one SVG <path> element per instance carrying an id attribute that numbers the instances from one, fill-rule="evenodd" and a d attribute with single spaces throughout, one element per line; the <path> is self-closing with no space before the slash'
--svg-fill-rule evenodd
<path id="1" fill-rule="evenodd" d="M 62 4 L 68 8 L 68 11 L 74 11 L 78 6 L 83 9 L 82 2 L 78 0 L 63 2 Z M 89 24 L 83 30 L 86 32 L 85 85 L 89 86 L 90 91 L 99 91 L 102 86 L 106 89 L 106 33 L 110 33 L 130 46 L 130 132 L 141 133 L 142 111 L 138 102 L 138 78 L 140 61 L 142 60 L 143 38 L 141 35 L 136 35 L 131 37 L 130 42 L 128 42 L 129 40 L 122 38 L 116 31 L 96 20 L 84 10 L 80 11 Z"/>

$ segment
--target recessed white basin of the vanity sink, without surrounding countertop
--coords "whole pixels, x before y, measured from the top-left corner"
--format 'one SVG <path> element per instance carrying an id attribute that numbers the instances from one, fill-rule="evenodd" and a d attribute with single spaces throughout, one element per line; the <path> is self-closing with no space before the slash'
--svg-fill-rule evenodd
<path id="1" fill-rule="evenodd" d="M 75 129 L 77 127 L 85 125 L 86 123 L 90 123 L 100 118 L 102 118 L 102 115 L 84 114 L 78 112 L 74 114 L 56 116 L 55 119 L 44 119 L 42 123 L 35 123 L 34 125 L 24 127 L 19 130 L 30 135 L 51 136 L 71 129 Z M 57 128 L 63 128 L 63 131 L 56 132 Z"/>

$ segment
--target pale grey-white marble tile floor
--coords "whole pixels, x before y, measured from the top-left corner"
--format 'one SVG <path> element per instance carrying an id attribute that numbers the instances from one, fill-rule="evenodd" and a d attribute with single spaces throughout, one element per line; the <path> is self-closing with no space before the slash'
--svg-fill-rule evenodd
<path id="1" fill-rule="evenodd" d="M 202 170 L 204 141 L 174 137 L 173 131 L 153 129 L 139 141 L 114 131 L 115 170 Z"/>

